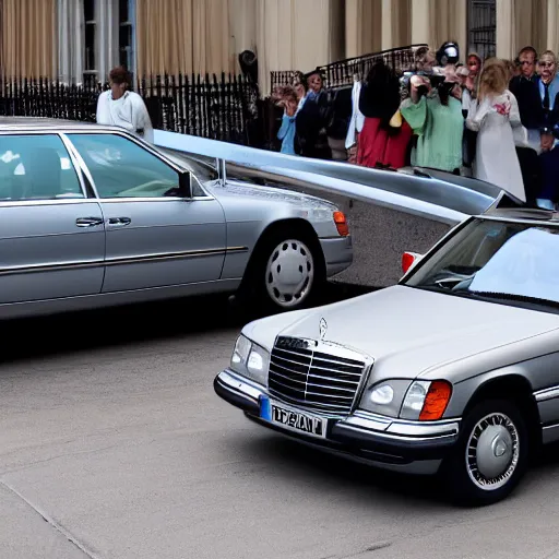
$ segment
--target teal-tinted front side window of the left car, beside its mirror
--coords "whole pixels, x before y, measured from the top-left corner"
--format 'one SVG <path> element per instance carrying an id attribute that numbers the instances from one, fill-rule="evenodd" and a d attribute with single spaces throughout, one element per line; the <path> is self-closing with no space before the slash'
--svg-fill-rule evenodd
<path id="1" fill-rule="evenodd" d="M 179 175 L 136 143 L 117 134 L 68 134 L 100 198 L 176 195 Z"/>

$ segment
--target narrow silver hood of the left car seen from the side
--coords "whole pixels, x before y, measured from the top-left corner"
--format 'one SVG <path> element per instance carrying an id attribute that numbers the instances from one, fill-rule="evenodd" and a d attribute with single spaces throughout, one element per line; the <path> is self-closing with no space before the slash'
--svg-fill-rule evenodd
<path id="1" fill-rule="evenodd" d="M 298 209 L 302 206 L 307 210 L 328 210 L 329 212 L 333 212 L 336 209 L 336 206 L 328 200 L 275 187 L 251 186 L 235 181 L 228 181 L 226 187 L 209 183 L 204 185 L 204 187 L 212 195 L 222 201 L 230 198 L 247 198 L 251 201 L 260 200 L 263 203 L 282 202 Z"/>

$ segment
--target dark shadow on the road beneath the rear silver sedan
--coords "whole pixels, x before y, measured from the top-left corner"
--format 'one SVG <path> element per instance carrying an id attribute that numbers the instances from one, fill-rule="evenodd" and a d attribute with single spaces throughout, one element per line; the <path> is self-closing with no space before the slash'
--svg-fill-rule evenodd
<path id="1" fill-rule="evenodd" d="M 329 283 L 323 304 L 370 290 Z M 259 317 L 245 312 L 227 297 L 206 296 L 3 321 L 0 322 L 0 364 L 189 333 L 240 329 L 254 318 Z"/>

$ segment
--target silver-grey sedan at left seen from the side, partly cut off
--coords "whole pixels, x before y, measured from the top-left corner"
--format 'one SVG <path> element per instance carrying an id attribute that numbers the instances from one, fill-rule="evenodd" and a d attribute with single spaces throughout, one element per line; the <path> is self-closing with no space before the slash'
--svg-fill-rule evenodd
<path id="1" fill-rule="evenodd" d="M 353 261 L 332 203 L 121 129 L 0 119 L 0 319 L 209 293 L 302 308 Z"/>

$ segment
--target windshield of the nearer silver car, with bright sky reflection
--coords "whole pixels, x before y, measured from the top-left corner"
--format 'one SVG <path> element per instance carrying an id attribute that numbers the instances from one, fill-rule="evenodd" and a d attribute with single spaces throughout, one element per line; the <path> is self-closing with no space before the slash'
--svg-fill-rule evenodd
<path id="1" fill-rule="evenodd" d="M 559 312 L 559 227 L 473 219 L 404 285 Z"/>

